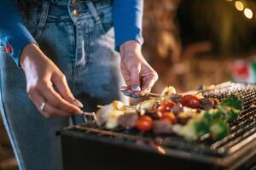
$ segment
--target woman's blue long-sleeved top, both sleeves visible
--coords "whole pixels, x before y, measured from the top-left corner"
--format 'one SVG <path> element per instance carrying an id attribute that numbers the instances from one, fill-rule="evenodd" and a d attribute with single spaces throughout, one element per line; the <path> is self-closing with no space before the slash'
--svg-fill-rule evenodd
<path id="1" fill-rule="evenodd" d="M 0 0 L 0 42 L 10 57 L 20 66 L 20 54 L 29 43 L 36 43 L 26 29 L 24 20 L 14 0 Z M 143 0 L 113 0 L 113 27 L 115 49 L 130 40 L 143 43 Z"/>

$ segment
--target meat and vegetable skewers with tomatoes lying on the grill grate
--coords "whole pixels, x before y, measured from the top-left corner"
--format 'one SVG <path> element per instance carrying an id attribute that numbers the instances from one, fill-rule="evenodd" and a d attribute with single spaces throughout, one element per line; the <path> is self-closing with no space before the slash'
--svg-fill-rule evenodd
<path id="1" fill-rule="evenodd" d="M 97 105 L 96 113 L 84 112 L 84 121 L 96 122 L 97 126 L 108 129 L 120 126 L 152 130 L 153 133 L 177 133 L 188 140 L 203 140 L 210 136 L 222 139 L 229 134 L 228 123 L 240 116 L 242 101 L 238 96 L 230 95 L 218 102 L 218 99 L 202 96 L 203 91 L 193 90 L 181 95 L 167 87 L 161 94 L 148 93 L 150 99 L 137 105 L 114 100 L 108 105 Z M 201 127 L 202 123 L 204 127 Z"/>

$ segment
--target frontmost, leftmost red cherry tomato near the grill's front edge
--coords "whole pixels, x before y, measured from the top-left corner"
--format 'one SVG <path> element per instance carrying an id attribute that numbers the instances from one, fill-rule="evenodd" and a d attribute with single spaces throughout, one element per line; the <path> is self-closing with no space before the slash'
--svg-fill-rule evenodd
<path id="1" fill-rule="evenodd" d="M 153 127 L 153 119 L 150 116 L 140 116 L 136 123 L 137 129 L 149 131 Z"/>

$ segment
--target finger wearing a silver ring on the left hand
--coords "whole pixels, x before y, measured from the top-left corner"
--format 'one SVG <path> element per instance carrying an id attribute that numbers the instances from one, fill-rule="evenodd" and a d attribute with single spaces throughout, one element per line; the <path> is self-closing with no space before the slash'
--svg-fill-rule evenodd
<path id="1" fill-rule="evenodd" d="M 29 98 L 32 100 L 33 104 L 37 106 L 38 111 L 44 117 L 51 117 L 51 116 L 71 116 L 72 113 L 68 113 L 67 111 L 62 111 L 61 109 L 57 109 L 54 106 L 50 105 L 45 101 L 45 99 L 38 94 L 37 91 L 32 92 L 29 94 Z M 41 105 L 45 102 L 44 110 L 42 111 Z"/>

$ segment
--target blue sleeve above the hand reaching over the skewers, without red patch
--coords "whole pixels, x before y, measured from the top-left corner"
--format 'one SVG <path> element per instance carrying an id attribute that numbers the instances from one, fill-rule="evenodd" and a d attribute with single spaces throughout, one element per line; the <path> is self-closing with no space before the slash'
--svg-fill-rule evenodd
<path id="1" fill-rule="evenodd" d="M 143 0 L 113 0 L 115 49 L 126 41 L 143 44 Z"/>

